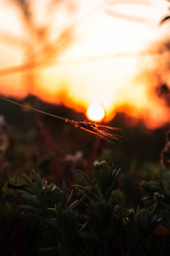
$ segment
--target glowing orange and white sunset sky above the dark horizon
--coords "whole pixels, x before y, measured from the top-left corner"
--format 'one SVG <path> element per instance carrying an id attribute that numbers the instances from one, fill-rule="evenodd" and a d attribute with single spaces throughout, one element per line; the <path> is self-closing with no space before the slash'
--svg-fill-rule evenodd
<path id="1" fill-rule="evenodd" d="M 169 82 L 169 53 L 157 54 L 169 39 L 170 22 L 160 25 L 168 1 L 37 0 L 27 19 L 13 2 L 0 2 L 3 96 L 32 93 L 84 112 L 100 104 L 106 121 L 122 111 L 151 129 L 169 122 L 167 100 L 155 93 Z M 28 63 L 34 68 L 23 70 Z"/>

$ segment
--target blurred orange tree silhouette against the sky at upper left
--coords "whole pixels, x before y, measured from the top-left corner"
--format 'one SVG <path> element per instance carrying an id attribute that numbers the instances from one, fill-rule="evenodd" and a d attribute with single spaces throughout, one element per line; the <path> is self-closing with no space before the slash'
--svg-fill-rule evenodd
<path id="1" fill-rule="evenodd" d="M 38 3 L 38 1 L 37 1 Z M 60 4 L 65 4 L 67 11 L 73 12 L 76 8 L 74 0 L 69 4 L 64 1 L 46 1 L 45 15 L 54 13 Z M 72 4 L 71 4 L 72 3 Z M 5 3 L 6 4 L 6 3 Z M 72 26 L 64 27 L 61 32 L 56 31 L 55 39 L 51 39 L 50 21 L 42 24 L 37 22 L 37 10 L 35 10 L 36 3 L 32 0 L 11 0 L 6 6 L 13 6 L 17 14 L 19 14 L 19 21 L 24 29 L 23 38 L 10 33 L 3 33 L 0 31 L 1 40 L 10 46 L 22 47 L 23 64 L 21 66 L 14 66 L 1 70 L 1 75 L 10 73 L 23 72 L 24 85 L 29 93 L 33 93 L 34 84 L 36 82 L 36 73 L 34 68 L 46 65 L 48 62 L 54 61 L 58 55 L 61 54 L 72 41 Z M 41 3 L 39 3 L 41 8 Z M 45 18 L 46 17 L 42 17 Z"/>

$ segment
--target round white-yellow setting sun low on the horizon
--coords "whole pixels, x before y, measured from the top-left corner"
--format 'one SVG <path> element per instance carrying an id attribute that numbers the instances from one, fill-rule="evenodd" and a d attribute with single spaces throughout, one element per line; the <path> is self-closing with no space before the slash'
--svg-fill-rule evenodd
<path id="1" fill-rule="evenodd" d="M 92 121 L 101 121 L 104 118 L 104 109 L 99 104 L 92 104 L 89 106 L 86 115 Z"/>

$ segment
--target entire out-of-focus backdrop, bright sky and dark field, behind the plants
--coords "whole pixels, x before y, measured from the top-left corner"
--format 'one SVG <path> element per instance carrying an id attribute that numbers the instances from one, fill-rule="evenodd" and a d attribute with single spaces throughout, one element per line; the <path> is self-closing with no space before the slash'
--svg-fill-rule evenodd
<path id="1" fill-rule="evenodd" d="M 0 100 L 0 167 L 9 174 L 34 168 L 60 183 L 78 168 L 90 173 L 91 162 L 104 159 L 134 186 L 163 173 L 170 22 L 162 20 L 169 7 L 167 0 L 1 0 L 0 95 L 124 131 L 115 131 L 122 142 L 107 143 Z M 93 104 L 102 107 L 101 117 L 98 108 L 87 115 Z"/>

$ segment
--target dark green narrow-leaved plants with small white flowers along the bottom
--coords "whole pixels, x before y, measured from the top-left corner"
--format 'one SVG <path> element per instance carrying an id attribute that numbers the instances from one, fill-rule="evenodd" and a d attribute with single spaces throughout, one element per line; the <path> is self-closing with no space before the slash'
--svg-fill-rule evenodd
<path id="1" fill-rule="evenodd" d="M 169 255 L 169 143 L 167 132 L 166 172 L 141 182 L 143 198 L 130 209 L 119 188 L 120 169 L 105 161 L 92 163 L 88 175 L 79 170 L 74 184 L 63 182 L 62 189 L 35 171 L 18 177 L 2 170 L 2 255 Z"/>

